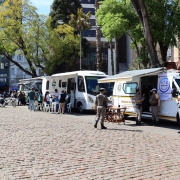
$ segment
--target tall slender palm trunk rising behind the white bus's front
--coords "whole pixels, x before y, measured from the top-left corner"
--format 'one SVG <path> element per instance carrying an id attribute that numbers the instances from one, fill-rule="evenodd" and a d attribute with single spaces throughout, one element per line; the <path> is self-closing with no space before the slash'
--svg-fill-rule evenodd
<path id="1" fill-rule="evenodd" d="M 98 0 L 95 2 L 95 11 L 99 9 Z M 97 71 L 102 71 L 102 54 L 101 54 L 101 30 L 98 26 L 96 18 L 96 58 L 97 58 Z"/>

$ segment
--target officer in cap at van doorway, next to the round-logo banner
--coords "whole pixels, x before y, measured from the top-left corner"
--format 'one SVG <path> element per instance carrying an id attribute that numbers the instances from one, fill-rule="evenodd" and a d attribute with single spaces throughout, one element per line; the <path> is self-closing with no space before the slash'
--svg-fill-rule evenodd
<path id="1" fill-rule="evenodd" d="M 160 99 L 157 94 L 156 88 L 153 88 L 152 95 L 149 99 L 151 112 L 152 112 L 152 125 L 159 126 L 159 107 L 160 107 Z"/>

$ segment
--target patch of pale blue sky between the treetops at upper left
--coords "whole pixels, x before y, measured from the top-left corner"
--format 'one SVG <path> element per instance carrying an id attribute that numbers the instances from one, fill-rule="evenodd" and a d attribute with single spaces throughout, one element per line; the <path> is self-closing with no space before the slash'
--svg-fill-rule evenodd
<path id="1" fill-rule="evenodd" d="M 30 0 L 30 2 L 37 8 L 38 14 L 49 15 L 53 0 Z"/>

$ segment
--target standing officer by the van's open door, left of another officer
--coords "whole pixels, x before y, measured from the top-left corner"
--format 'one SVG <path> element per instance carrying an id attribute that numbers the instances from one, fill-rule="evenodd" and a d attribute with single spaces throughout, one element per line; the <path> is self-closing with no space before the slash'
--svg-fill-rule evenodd
<path id="1" fill-rule="evenodd" d="M 135 108 L 136 108 L 136 125 L 141 125 L 142 118 L 142 102 L 143 98 L 141 97 L 141 92 L 139 89 L 136 89 L 136 94 L 134 96 Z"/>

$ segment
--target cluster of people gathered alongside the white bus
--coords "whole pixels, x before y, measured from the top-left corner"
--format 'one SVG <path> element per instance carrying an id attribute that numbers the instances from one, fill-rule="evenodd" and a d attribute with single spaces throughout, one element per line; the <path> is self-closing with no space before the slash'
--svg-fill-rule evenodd
<path id="1" fill-rule="evenodd" d="M 67 104 L 69 100 L 69 96 L 66 93 L 65 90 L 62 90 L 61 93 L 58 92 L 57 89 L 55 89 L 55 92 L 53 95 L 50 94 L 49 91 L 46 91 L 45 95 L 43 96 L 41 90 L 34 90 L 34 88 L 31 89 L 28 93 L 29 98 L 29 109 L 30 111 L 34 110 L 34 103 L 42 103 L 45 102 L 46 105 L 50 105 L 50 103 L 53 101 L 55 102 L 55 111 L 60 114 L 64 114 L 67 112 Z"/>

